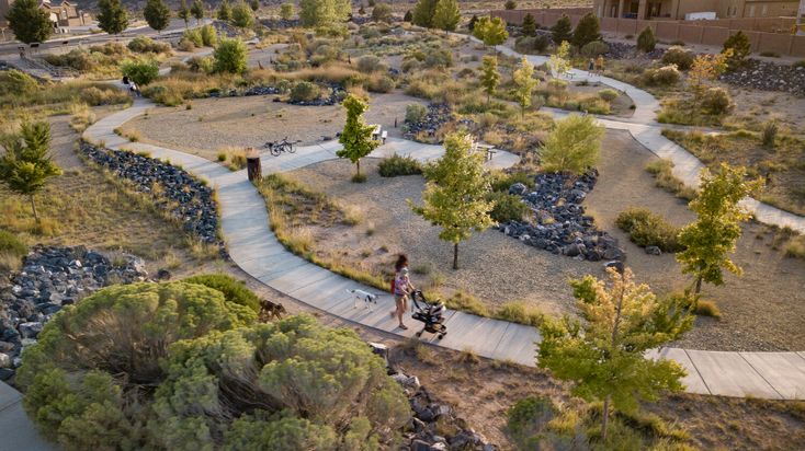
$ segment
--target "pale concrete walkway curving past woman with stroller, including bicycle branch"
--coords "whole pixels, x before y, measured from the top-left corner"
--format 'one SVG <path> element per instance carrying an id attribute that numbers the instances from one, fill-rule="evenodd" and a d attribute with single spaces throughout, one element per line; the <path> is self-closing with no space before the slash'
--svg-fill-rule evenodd
<path id="1" fill-rule="evenodd" d="M 365 327 L 411 337 L 419 323 L 408 320 L 402 331 L 389 316 L 394 300 L 386 292 L 362 286 L 287 252 L 269 228 L 265 204 L 246 172 L 230 172 L 201 157 L 157 146 L 128 142 L 114 134 L 125 122 L 143 114 L 154 104 L 138 100 L 131 108 L 107 116 L 84 131 L 91 141 L 103 141 L 113 149 L 147 151 L 169 160 L 206 180 L 218 190 L 222 229 L 233 261 L 267 286 L 314 308 Z M 316 162 L 335 159 L 339 144 L 330 141 L 299 148 L 294 154 L 263 157 L 263 172 L 292 171 Z M 438 158 L 442 148 L 401 139 L 392 139 L 373 155 L 393 152 L 420 161 Z M 503 167 L 517 162 L 507 152 L 497 153 L 488 164 Z M 348 289 L 378 294 L 373 310 L 355 307 Z M 447 311 L 449 334 L 442 340 L 427 335 L 424 342 L 455 350 L 473 350 L 479 356 L 534 366 L 540 334 L 534 327 L 473 314 Z M 683 382 L 690 393 L 726 396 L 752 396 L 770 400 L 805 400 L 805 352 L 721 352 L 662 348 L 653 358 L 668 358 L 688 370 Z"/>

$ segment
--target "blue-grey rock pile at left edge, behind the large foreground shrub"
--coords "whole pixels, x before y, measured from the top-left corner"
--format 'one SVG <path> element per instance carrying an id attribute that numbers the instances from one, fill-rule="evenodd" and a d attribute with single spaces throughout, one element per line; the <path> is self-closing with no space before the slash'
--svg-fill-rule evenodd
<path id="1" fill-rule="evenodd" d="M 14 375 L 23 349 L 64 305 L 107 285 L 147 277 L 143 259 L 133 255 L 112 262 L 83 246 L 34 247 L 21 271 L 0 277 L 0 380 Z"/>

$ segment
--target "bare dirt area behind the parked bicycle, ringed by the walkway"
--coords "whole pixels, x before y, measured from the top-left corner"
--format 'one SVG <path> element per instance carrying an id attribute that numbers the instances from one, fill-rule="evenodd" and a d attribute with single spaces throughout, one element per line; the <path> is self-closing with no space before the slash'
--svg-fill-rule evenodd
<path id="1" fill-rule="evenodd" d="M 139 136 L 143 142 L 166 144 L 209 160 L 215 160 L 224 147 L 261 148 L 267 141 L 285 137 L 291 141 L 302 140 L 301 146 L 310 146 L 321 142 L 324 136 L 332 139 L 343 129 L 345 116 L 340 105 L 288 105 L 273 102 L 274 97 L 196 100 L 192 109 L 155 107 L 147 116 L 139 116 L 122 128 L 126 134 Z M 366 123 L 379 124 L 389 137 L 399 137 L 406 106 L 411 103 L 426 102 L 399 93 L 374 94 L 365 114 Z"/>

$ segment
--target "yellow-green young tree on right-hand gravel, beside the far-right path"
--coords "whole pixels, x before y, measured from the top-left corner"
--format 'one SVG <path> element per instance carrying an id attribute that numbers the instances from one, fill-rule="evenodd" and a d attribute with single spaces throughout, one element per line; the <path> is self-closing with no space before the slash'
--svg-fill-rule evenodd
<path id="1" fill-rule="evenodd" d="M 703 281 L 724 285 L 723 268 L 738 276 L 742 273 L 727 255 L 740 238 L 740 223 L 750 217 L 738 203 L 759 188 L 758 182 L 747 182 L 745 167 L 722 163 L 715 174 L 706 167 L 702 171 L 699 195 L 689 206 L 698 219 L 679 233 L 679 244 L 685 250 L 677 253 L 682 273 L 695 277 L 695 294 Z"/>

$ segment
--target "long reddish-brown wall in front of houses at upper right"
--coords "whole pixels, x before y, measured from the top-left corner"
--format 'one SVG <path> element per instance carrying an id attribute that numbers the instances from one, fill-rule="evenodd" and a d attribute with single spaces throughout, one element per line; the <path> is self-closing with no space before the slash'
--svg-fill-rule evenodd
<path id="1" fill-rule="evenodd" d="M 586 11 L 586 12 L 583 12 Z M 592 9 L 568 10 L 496 10 L 498 16 L 513 24 L 522 23 L 525 14 L 534 16 L 540 26 L 553 26 L 563 13 L 568 14 L 576 25 L 579 19 Z M 739 30 L 749 36 L 752 51 L 773 51 L 780 55 L 805 57 L 805 36 L 791 34 L 794 20 L 790 18 L 767 19 L 723 19 L 713 21 L 643 21 L 636 19 L 602 18 L 601 31 L 620 35 L 636 36 L 646 26 L 654 30 L 658 39 L 665 42 L 681 41 L 685 44 L 721 46 L 729 35 Z M 789 30 L 787 34 L 769 32 L 769 30 Z"/>

